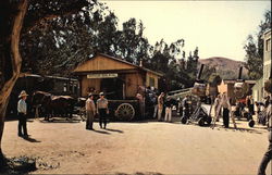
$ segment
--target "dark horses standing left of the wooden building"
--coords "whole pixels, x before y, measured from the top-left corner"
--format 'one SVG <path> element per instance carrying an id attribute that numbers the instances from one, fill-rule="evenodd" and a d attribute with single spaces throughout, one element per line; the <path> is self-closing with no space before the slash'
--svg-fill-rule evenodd
<path id="1" fill-rule="evenodd" d="M 32 98 L 34 108 L 46 121 L 53 116 L 72 117 L 76 100 L 71 96 L 53 96 L 45 91 L 35 91 Z"/>

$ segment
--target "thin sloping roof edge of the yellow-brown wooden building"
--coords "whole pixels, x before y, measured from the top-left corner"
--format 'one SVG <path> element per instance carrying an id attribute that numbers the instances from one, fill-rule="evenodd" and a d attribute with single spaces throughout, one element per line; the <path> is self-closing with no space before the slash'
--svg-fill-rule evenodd
<path id="1" fill-rule="evenodd" d="M 124 59 L 114 58 L 114 57 L 111 57 L 111 55 L 104 54 L 104 53 L 97 53 L 96 55 L 91 57 L 89 60 L 91 60 L 91 59 L 94 59 L 94 58 L 96 58 L 96 57 L 98 57 L 98 55 L 106 57 L 106 58 L 115 60 L 115 61 L 118 61 L 118 62 L 122 62 L 122 63 L 124 63 L 124 64 L 134 66 L 134 67 L 136 67 L 136 68 L 138 68 L 138 70 L 141 70 L 141 71 L 145 71 L 145 72 L 149 72 L 149 73 L 156 74 L 156 75 L 158 75 L 158 76 L 163 76 L 162 73 L 158 73 L 158 72 L 156 72 L 156 71 L 152 71 L 152 70 L 149 70 L 149 68 L 146 68 L 146 67 L 143 67 L 143 66 L 133 64 L 133 63 L 131 63 L 131 62 L 128 62 L 128 61 L 126 61 L 126 60 L 124 60 Z M 88 60 L 88 61 L 89 61 L 89 60 Z M 84 62 L 84 63 L 85 63 L 85 62 Z M 84 64 L 84 63 L 82 63 L 82 64 Z M 79 65 L 82 65 L 82 64 L 79 64 Z"/>

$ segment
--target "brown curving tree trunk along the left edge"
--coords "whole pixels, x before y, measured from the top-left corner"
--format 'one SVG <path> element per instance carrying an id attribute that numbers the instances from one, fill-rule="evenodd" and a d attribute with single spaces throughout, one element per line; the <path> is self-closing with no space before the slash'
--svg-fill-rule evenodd
<path id="1" fill-rule="evenodd" d="M 15 85 L 15 82 L 20 75 L 22 58 L 18 50 L 20 43 L 20 34 L 23 26 L 25 13 L 27 11 L 28 0 L 21 0 L 16 5 L 15 14 L 11 14 L 9 16 L 12 20 L 12 29 L 10 36 L 7 36 L 7 40 L 2 41 L 4 43 L 5 49 L 9 49 L 9 54 L 5 54 L 5 60 L 10 60 L 11 62 L 11 70 L 4 70 L 3 74 L 12 73 L 11 78 L 5 79 L 3 87 L 0 91 L 0 166 L 4 163 L 4 157 L 2 153 L 2 135 L 4 128 L 4 117 L 5 117 L 5 110 L 9 103 L 9 97 Z M 4 25 L 2 27 L 5 27 Z M 7 58 L 9 57 L 9 58 Z"/>

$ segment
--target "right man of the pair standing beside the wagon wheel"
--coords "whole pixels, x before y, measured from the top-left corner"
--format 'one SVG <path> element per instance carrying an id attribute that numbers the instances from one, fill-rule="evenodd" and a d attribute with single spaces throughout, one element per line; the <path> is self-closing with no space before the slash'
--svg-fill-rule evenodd
<path id="1" fill-rule="evenodd" d="M 99 93 L 99 99 L 97 100 L 97 112 L 99 114 L 99 126 L 106 129 L 107 126 L 107 115 L 109 114 L 109 108 L 108 108 L 108 100 L 104 98 L 104 93 L 100 92 Z"/>

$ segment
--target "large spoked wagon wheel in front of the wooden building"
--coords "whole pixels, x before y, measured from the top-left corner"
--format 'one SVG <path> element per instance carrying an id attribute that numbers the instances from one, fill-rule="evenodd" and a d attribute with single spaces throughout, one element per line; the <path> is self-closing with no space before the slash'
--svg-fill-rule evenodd
<path id="1" fill-rule="evenodd" d="M 115 111 L 115 116 L 120 120 L 131 121 L 135 115 L 135 110 L 132 104 L 122 103 Z"/>

